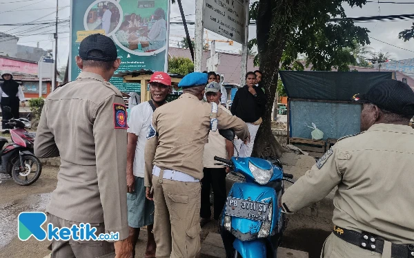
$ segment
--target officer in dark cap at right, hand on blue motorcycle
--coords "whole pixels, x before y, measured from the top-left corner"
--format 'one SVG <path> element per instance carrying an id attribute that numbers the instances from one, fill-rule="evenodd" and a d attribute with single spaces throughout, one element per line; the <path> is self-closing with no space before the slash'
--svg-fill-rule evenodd
<path id="1" fill-rule="evenodd" d="M 336 186 L 333 233 L 321 257 L 414 257 L 414 92 L 384 80 L 362 103 L 362 133 L 348 136 L 286 190 L 286 213 L 322 200 Z"/>

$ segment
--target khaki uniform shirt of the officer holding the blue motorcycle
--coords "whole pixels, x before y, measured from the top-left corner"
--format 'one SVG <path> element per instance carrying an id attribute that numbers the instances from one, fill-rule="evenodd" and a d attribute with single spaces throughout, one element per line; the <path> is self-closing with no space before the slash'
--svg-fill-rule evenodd
<path id="1" fill-rule="evenodd" d="M 338 186 L 333 224 L 414 244 L 413 142 L 411 127 L 388 124 L 344 138 L 287 189 L 282 203 L 299 211 Z"/>

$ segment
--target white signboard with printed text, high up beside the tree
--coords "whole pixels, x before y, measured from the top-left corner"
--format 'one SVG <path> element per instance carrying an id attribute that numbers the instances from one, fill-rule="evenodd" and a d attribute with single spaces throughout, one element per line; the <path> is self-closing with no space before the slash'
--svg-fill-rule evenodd
<path id="1" fill-rule="evenodd" d="M 204 0 L 203 27 L 244 44 L 245 10 L 246 0 Z"/>

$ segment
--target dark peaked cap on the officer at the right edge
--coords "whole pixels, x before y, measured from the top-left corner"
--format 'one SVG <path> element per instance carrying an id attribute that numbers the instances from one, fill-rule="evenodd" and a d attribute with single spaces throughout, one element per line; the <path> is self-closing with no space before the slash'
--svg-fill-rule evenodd
<path id="1" fill-rule="evenodd" d="M 366 94 L 355 94 L 357 103 L 372 103 L 395 114 L 414 116 L 414 92 L 399 80 L 383 80 L 374 85 Z"/>

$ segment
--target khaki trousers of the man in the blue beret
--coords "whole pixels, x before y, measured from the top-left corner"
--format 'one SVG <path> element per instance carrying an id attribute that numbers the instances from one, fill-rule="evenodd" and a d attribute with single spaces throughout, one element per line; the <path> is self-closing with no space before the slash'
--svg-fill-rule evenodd
<path id="1" fill-rule="evenodd" d="M 156 257 L 192 258 L 201 249 L 199 182 L 179 182 L 152 176 Z"/>

